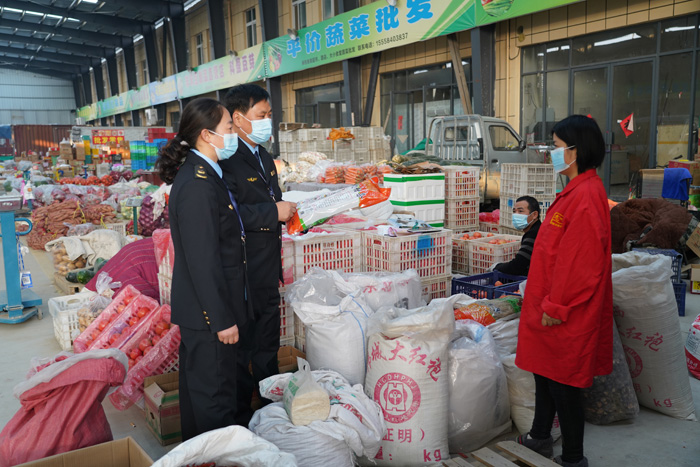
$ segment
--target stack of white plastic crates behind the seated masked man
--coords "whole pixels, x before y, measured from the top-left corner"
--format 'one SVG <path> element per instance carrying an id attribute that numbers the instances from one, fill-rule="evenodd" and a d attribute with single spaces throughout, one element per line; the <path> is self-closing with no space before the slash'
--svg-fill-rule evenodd
<path id="1" fill-rule="evenodd" d="M 540 220 L 544 221 L 557 194 L 557 179 L 552 164 L 502 164 L 500 192 L 500 231 L 522 235 L 513 228 L 513 207 L 521 196 L 532 196 L 540 203 Z"/>

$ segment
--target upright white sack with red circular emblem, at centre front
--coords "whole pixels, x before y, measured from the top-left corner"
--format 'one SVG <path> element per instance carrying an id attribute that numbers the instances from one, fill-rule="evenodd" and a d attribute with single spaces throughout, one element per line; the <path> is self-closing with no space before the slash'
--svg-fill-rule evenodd
<path id="1" fill-rule="evenodd" d="M 371 462 L 434 465 L 449 459 L 448 353 L 452 299 L 417 309 L 382 308 L 369 320 L 365 393 L 384 413 L 387 435 Z"/>

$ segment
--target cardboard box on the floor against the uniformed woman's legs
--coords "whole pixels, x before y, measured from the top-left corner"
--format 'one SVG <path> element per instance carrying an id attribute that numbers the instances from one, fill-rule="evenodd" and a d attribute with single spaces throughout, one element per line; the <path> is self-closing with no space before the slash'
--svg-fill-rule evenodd
<path id="1" fill-rule="evenodd" d="M 150 376 L 143 383 L 146 422 L 163 446 L 182 441 L 179 375 L 175 371 Z"/>

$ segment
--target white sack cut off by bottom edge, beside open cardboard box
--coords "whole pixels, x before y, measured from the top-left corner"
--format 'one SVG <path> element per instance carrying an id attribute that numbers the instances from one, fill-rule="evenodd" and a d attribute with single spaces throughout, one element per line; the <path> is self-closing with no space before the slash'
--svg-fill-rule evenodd
<path id="1" fill-rule="evenodd" d="M 208 431 L 185 441 L 158 459 L 152 467 L 183 465 L 237 465 L 240 467 L 296 467 L 292 454 L 251 433 L 242 426 Z"/>

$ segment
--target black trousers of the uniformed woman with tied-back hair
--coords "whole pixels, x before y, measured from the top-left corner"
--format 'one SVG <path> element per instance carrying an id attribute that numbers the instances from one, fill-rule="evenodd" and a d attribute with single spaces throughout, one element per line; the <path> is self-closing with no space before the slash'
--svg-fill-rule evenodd
<path id="1" fill-rule="evenodd" d="M 248 426 L 237 397 L 240 344 L 223 344 L 216 333 L 180 328 L 180 419 L 183 441 L 229 425 Z M 247 368 L 245 368 L 247 372 Z M 247 410 L 250 410 L 248 399 Z M 246 417 L 248 417 L 246 419 Z"/>

